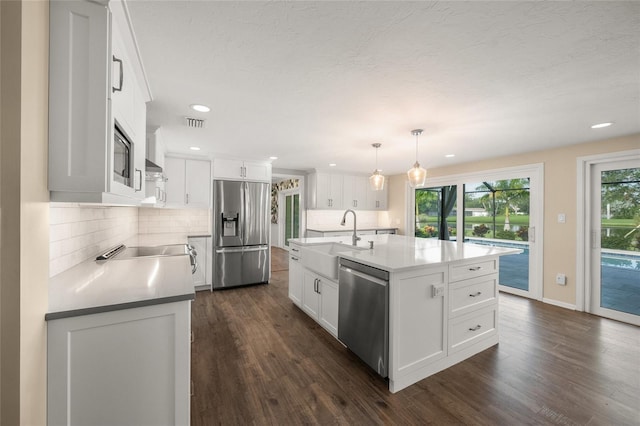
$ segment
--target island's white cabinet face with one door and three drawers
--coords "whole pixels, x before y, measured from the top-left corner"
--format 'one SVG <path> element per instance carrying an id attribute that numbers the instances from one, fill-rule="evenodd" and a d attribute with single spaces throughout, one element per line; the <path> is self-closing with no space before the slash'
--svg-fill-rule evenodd
<path id="1" fill-rule="evenodd" d="M 391 274 L 389 389 L 498 343 L 498 257 Z"/>

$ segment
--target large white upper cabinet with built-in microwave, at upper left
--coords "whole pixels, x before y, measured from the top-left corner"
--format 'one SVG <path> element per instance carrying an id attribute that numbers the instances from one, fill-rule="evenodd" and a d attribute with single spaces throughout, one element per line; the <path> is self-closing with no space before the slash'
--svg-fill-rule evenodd
<path id="1" fill-rule="evenodd" d="M 151 96 L 127 14 L 121 1 L 50 3 L 52 201 L 138 204 L 144 198 Z M 114 142 L 116 124 L 130 144 L 126 154 Z"/>

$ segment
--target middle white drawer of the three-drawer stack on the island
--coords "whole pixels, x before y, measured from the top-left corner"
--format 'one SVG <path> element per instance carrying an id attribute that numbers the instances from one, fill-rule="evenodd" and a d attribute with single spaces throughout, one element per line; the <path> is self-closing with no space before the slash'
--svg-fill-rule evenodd
<path id="1" fill-rule="evenodd" d="M 498 275 L 491 274 L 452 283 L 449 287 L 449 312 L 456 316 L 497 301 Z"/>

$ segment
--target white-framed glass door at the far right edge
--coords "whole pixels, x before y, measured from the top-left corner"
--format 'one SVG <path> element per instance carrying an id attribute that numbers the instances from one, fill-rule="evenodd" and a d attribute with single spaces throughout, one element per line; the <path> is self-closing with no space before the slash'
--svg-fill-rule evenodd
<path id="1" fill-rule="evenodd" d="M 589 165 L 585 254 L 587 312 L 640 325 L 638 159 Z"/>

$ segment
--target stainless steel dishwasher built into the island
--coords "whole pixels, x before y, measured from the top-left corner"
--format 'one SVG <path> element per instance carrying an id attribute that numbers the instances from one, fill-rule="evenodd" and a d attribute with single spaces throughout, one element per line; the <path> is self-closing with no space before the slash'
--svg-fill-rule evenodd
<path id="1" fill-rule="evenodd" d="M 387 377 L 389 272 L 340 259 L 338 288 L 338 340 Z"/>

